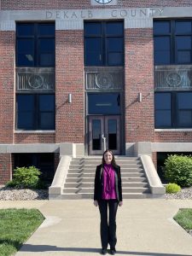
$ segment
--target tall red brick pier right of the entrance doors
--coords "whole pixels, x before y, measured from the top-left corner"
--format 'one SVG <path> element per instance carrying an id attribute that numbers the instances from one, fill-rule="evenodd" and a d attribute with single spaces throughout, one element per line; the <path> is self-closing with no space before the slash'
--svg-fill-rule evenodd
<path id="1" fill-rule="evenodd" d="M 143 96 L 138 102 L 138 93 Z M 125 141 L 154 140 L 152 29 L 125 31 Z"/>

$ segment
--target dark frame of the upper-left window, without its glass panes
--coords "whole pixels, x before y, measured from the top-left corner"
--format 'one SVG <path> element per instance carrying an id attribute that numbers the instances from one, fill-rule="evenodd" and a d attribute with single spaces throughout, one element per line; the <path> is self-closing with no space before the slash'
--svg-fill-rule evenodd
<path id="1" fill-rule="evenodd" d="M 18 26 L 27 26 L 27 25 L 33 25 L 33 34 L 32 35 L 20 35 L 19 34 L 19 28 Z M 40 46 L 39 46 L 39 42 L 41 39 L 54 39 L 54 43 L 55 43 L 55 32 L 54 34 L 47 34 L 47 35 L 41 35 L 40 32 L 38 33 L 38 27 L 39 26 L 54 26 L 55 28 L 55 22 L 17 22 L 16 23 L 16 44 L 15 44 L 15 53 L 16 53 L 16 57 L 15 57 L 15 64 L 16 67 L 55 67 L 55 47 L 54 47 L 54 51 L 49 51 L 51 54 L 54 55 L 54 60 L 53 60 L 53 64 L 52 65 L 40 65 Z M 55 30 L 55 29 L 54 29 Z M 31 39 L 33 42 L 33 49 L 32 49 L 32 53 L 33 53 L 33 65 L 20 65 L 19 64 L 19 44 L 18 41 L 19 40 L 25 40 L 25 39 Z M 47 53 L 49 53 L 47 52 Z"/>

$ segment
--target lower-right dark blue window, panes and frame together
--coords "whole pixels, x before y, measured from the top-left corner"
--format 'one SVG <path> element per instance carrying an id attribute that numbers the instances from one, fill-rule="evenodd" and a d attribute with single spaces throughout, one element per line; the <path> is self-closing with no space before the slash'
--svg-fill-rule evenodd
<path id="1" fill-rule="evenodd" d="M 156 92 L 155 128 L 192 128 L 192 92 Z"/>

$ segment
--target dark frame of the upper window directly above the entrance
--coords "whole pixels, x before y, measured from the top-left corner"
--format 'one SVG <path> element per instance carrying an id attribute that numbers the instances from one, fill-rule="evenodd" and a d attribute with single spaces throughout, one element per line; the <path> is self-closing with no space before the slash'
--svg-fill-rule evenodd
<path id="1" fill-rule="evenodd" d="M 85 32 L 85 26 L 86 24 L 101 24 L 102 26 L 102 32 L 100 34 L 94 34 L 91 33 L 90 35 L 86 34 Z M 122 34 L 111 34 L 111 33 L 107 33 L 107 25 L 109 23 L 121 23 L 123 26 L 123 33 Z M 109 67 L 123 67 L 125 65 L 125 25 L 124 25 L 124 20 L 85 20 L 84 21 L 84 66 L 85 67 L 90 67 L 90 66 L 95 66 L 95 67 L 104 67 L 104 66 L 109 66 Z M 86 57 L 86 39 L 89 38 L 101 38 L 101 42 L 102 42 L 102 49 L 101 49 L 101 55 L 100 55 L 100 61 L 101 63 L 99 64 L 89 64 L 87 63 L 87 57 Z M 118 51 L 119 53 L 122 54 L 122 62 L 120 63 L 120 65 L 113 65 L 113 64 L 109 64 L 108 61 L 108 55 L 110 54 L 110 52 L 113 51 L 109 51 L 108 50 L 108 46 L 107 46 L 107 42 L 108 42 L 108 38 L 122 38 L 123 40 L 123 46 L 122 46 L 122 52 Z"/>

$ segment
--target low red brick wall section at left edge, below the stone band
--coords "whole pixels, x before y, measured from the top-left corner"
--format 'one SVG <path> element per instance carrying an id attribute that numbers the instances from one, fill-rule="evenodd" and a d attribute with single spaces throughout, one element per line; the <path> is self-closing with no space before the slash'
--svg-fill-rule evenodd
<path id="1" fill-rule="evenodd" d="M 11 154 L 0 154 L 0 185 L 11 179 Z"/>

